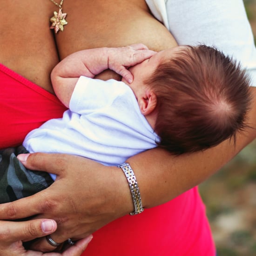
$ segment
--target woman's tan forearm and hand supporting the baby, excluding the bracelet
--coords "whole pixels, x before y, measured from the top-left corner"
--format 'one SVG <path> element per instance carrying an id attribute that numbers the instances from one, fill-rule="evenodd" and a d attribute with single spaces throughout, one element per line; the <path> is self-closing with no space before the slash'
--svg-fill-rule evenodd
<path id="1" fill-rule="evenodd" d="M 181 156 L 156 148 L 128 159 L 145 208 L 167 202 L 202 182 L 256 137 L 256 88 L 251 91 L 253 103 L 248 122 L 252 128 L 237 135 L 236 145 L 224 141 L 204 152 Z M 58 178 L 52 186 L 36 195 L 1 205 L 1 219 L 36 214 L 51 216 L 58 223 L 58 230 L 51 236 L 59 243 L 71 234 L 77 239 L 88 236 L 134 210 L 128 183 L 120 168 L 105 167 L 72 155 L 35 153 L 20 156 L 27 168 L 47 170 L 57 174 Z M 74 178 L 74 168 L 79 181 Z M 37 246 L 37 249 L 48 248 L 45 239 Z"/>

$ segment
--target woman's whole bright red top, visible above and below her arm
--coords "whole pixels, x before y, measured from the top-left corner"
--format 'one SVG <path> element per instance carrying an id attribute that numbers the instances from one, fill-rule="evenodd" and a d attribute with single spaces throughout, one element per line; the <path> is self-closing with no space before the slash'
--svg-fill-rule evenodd
<path id="1" fill-rule="evenodd" d="M 0 148 L 20 145 L 29 131 L 66 109 L 53 94 L 1 64 L 0 88 Z M 194 188 L 140 215 L 109 223 L 94 233 L 82 255 L 215 256 L 215 247 Z"/>

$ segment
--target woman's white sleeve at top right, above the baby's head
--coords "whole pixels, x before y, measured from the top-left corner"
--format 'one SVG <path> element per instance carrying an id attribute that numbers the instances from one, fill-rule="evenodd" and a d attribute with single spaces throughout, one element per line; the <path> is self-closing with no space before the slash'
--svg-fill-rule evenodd
<path id="1" fill-rule="evenodd" d="M 173 34 L 178 44 L 203 43 L 217 47 L 224 54 L 240 61 L 249 72 L 252 86 L 256 86 L 256 47 L 243 0 L 146 2 L 156 18 Z"/>

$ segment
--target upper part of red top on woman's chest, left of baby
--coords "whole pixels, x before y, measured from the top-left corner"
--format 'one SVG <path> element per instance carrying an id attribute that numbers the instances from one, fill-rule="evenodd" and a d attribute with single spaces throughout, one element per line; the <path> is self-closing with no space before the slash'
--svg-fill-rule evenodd
<path id="1" fill-rule="evenodd" d="M 0 64 L 0 148 L 18 146 L 45 121 L 66 108 L 56 96 Z"/>

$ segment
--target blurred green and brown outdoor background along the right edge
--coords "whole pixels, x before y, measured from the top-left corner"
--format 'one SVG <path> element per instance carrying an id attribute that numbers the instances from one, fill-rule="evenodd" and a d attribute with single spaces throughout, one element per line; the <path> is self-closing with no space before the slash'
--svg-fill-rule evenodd
<path id="1" fill-rule="evenodd" d="M 244 0 L 256 42 L 256 0 Z M 256 140 L 200 187 L 218 256 L 256 256 Z"/>

